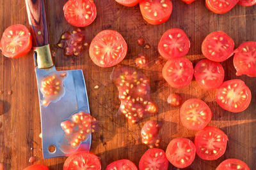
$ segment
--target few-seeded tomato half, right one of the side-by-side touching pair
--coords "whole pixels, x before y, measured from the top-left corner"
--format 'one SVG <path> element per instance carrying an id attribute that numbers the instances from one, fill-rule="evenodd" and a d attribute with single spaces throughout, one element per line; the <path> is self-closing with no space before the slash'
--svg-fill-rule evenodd
<path id="1" fill-rule="evenodd" d="M 196 64 L 194 75 L 200 87 L 212 90 L 223 83 L 224 69 L 219 62 L 204 59 Z"/>

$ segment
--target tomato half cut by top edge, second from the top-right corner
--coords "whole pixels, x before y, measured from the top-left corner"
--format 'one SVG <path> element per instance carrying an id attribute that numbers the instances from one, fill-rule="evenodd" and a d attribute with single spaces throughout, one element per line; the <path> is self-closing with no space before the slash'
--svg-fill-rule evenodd
<path id="1" fill-rule="evenodd" d="M 239 0 L 205 0 L 207 8 L 214 13 L 227 13 Z"/>

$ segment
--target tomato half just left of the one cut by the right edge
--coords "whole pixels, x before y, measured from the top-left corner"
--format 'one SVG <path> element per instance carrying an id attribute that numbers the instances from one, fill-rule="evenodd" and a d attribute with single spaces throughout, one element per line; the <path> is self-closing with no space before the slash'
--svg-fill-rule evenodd
<path id="1" fill-rule="evenodd" d="M 234 41 L 223 31 L 211 32 L 202 43 L 202 53 L 216 62 L 227 60 L 234 53 Z"/>

